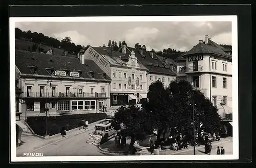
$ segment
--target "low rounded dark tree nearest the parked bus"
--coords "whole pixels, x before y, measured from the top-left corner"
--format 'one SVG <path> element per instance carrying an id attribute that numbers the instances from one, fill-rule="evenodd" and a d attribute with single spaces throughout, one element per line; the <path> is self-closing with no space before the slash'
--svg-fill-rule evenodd
<path id="1" fill-rule="evenodd" d="M 149 130 L 150 123 L 146 118 L 143 108 L 137 105 L 122 106 L 117 109 L 112 121 L 115 130 L 121 130 L 122 135 L 131 136 L 129 151 L 133 151 L 136 140 L 145 139 L 145 133 L 151 133 Z"/>

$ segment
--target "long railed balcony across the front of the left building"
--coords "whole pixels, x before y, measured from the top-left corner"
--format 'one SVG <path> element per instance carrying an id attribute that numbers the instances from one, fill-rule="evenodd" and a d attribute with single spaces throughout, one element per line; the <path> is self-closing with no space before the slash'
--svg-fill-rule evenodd
<path id="1" fill-rule="evenodd" d="M 105 98 L 106 93 L 88 93 L 88 92 L 23 92 L 21 98 Z"/>

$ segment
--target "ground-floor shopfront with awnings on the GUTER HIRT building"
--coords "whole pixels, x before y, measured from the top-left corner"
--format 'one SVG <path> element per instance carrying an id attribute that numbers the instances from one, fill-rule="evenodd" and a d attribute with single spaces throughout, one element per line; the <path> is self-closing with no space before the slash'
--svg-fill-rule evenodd
<path id="1" fill-rule="evenodd" d="M 140 104 L 146 100 L 147 93 L 110 93 L 110 106 Z"/>

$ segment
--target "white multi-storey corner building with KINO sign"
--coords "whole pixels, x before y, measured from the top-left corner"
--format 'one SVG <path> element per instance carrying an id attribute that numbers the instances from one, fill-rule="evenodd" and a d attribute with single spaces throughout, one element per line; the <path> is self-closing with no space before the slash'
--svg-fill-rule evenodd
<path id="1" fill-rule="evenodd" d="M 219 114 L 232 113 L 232 53 L 208 35 L 177 60 L 177 80 L 187 80 L 200 89 Z"/>

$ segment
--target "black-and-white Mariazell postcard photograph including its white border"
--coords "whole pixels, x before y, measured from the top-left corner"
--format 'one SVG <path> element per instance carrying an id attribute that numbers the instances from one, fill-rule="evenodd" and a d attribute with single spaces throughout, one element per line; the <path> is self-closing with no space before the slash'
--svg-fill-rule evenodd
<path id="1" fill-rule="evenodd" d="M 238 159 L 237 16 L 12 17 L 9 30 L 12 161 Z"/>

